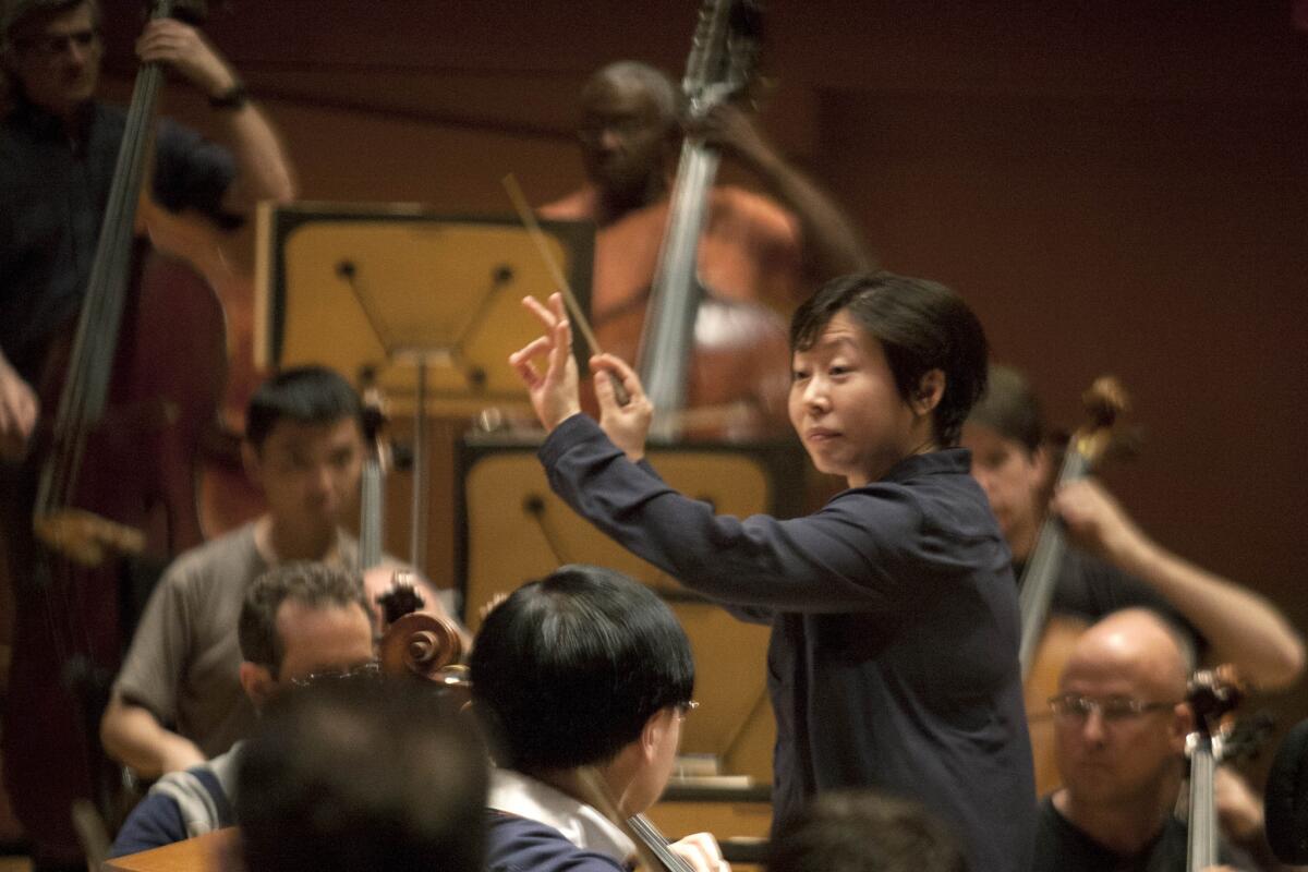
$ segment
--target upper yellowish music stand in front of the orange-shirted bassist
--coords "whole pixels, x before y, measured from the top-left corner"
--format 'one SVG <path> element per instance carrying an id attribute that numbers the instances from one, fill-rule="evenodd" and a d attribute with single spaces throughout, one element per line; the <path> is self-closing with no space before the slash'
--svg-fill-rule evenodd
<path id="1" fill-rule="evenodd" d="M 595 227 L 542 221 L 590 303 Z M 426 554 L 426 414 L 525 407 L 509 353 L 540 333 L 522 309 L 555 282 L 517 217 L 451 216 L 412 204 L 264 204 L 258 224 L 255 361 L 375 373 L 413 416 L 411 558 Z M 585 349 L 578 344 L 578 363 Z"/>

